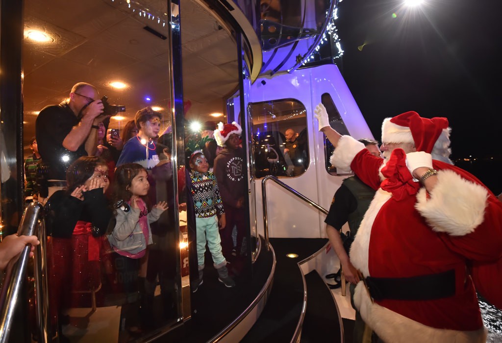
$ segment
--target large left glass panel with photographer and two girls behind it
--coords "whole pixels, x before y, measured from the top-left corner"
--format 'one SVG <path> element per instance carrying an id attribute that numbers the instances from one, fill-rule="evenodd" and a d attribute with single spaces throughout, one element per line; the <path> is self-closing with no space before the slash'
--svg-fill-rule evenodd
<path id="1" fill-rule="evenodd" d="M 71 341 L 146 337 L 189 317 L 171 110 L 169 15 L 179 37 L 179 7 L 26 0 L 24 9 L 25 153 L 36 136 L 40 200 L 52 194 L 51 331 Z M 87 124 L 103 96 L 108 115 Z M 79 158 L 87 154 L 100 159 Z"/>

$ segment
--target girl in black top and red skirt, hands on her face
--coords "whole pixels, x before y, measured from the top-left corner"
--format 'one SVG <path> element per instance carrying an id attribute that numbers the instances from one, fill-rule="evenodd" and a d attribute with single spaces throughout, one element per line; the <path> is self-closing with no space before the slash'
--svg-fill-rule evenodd
<path id="1" fill-rule="evenodd" d="M 75 303 L 91 305 L 85 292 L 101 288 L 101 266 L 109 249 L 103 235 L 112 216 L 104 195 L 110 184 L 104 159 L 78 158 L 66 171 L 66 183 L 67 190 L 55 192 L 45 205 L 51 315 L 58 325 Z"/>

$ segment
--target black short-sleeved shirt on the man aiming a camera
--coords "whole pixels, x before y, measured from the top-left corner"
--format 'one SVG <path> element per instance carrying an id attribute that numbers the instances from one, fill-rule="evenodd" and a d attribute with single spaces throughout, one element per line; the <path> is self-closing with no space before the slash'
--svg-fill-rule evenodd
<path id="1" fill-rule="evenodd" d="M 87 155 L 85 143 L 82 143 L 76 151 L 63 147 L 63 140 L 79 121 L 66 101 L 59 105 L 44 107 L 40 111 L 35 123 L 35 136 L 38 151 L 48 167 L 48 180 L 66 180 L 68 166 L 77 158 Z"/>

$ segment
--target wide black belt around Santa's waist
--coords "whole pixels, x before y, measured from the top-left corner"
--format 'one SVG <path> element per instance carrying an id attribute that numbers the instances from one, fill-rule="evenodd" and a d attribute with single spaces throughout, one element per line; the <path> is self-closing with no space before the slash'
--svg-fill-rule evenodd
<path id="1" fill-rule="evenodd" d="M 412 277 L 371 277 L 365 279 L 374 300 L 434 300 L 455 295 L 455 270 Z"/>

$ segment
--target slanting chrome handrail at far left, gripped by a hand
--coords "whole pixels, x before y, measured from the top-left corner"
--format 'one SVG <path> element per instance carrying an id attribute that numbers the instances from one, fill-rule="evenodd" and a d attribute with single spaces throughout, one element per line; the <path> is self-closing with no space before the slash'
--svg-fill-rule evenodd
<path id="1" fill-rule="evenodd" d="M 38 217 L 43 207 L 40 203 L 31 203 L 27 206 L 18 235 L 31 236 L 35 233 L 38 225 Z M 12 319 L 19 298 L 19 292 L 26 273 L 28 260 L 30 258 L 31 245 L 26 246 L 20 254 L 19 259 L 8 267 L 4 287 L 0 293 L 0 342 L 6 343 L 11 333 Z"/>

